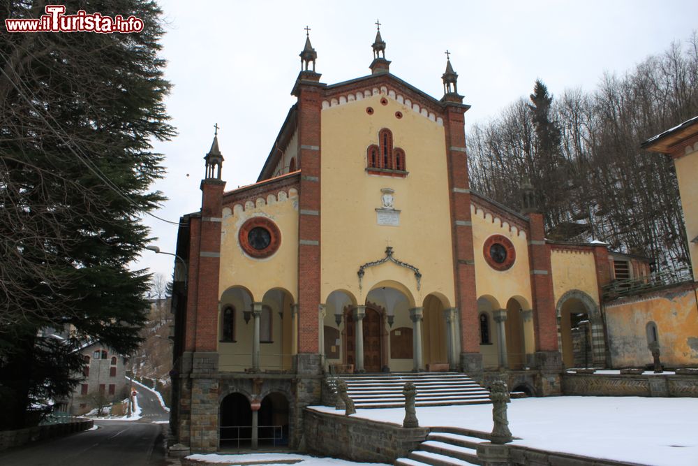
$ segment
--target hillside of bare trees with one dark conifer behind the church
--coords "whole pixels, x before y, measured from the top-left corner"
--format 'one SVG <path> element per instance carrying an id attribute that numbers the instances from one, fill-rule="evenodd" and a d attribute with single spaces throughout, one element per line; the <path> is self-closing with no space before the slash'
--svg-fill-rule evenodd
<path id="1" fill-rule="evenodd" d="M 639 145 L 698 115 L 697 34 L 625 74 L 605 73 L 593 92 L 554 96 L 543 80 L 469 132 L 473 189 L 518 207 L 528 179 L 547 238 L 601 240 L 690 274 L 673 162 Z"/>

